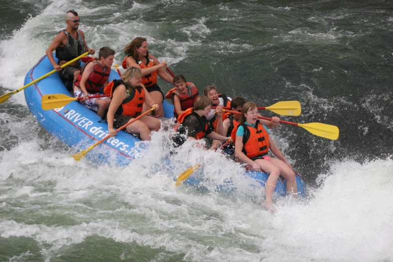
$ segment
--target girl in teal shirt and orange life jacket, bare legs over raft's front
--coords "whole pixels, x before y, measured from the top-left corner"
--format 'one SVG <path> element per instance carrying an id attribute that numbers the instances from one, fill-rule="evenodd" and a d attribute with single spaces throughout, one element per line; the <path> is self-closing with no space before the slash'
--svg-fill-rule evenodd
<path id="1" fill-rule="evenodd" d="M 283 153 L 274 144 L 265 127 L 258 121 L 258 108 L 254 102 L 246 102 L 241 110 L 240 124 L 231 134 L 238 160 L 251 165 L 253 170 L 263 170 L 270 174 L 266 182 L 265 207 L 275 212 L 273 192 L 279 176 L 287 179 L 287 193 L 296 197 L 295 172 Z M 278 158 L 268 156 L 269 149 Z"/>

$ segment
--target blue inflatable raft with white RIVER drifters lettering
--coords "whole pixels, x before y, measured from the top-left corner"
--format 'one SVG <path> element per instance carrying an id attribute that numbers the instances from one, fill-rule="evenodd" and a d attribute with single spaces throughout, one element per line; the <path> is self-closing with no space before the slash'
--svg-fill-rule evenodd
<path id="1" fill-rule="evenodd" d="M 55 58 L 56 59 L 56 58 Z M 44 56 L 27 73 L 25 85 L 53 70 L 47 56 Z M 112 70 L 109 81 L 119 79 L 116 71 Z M 72 101 L 67 105 L 52 110 L 44 110 L 41 107 L 42 96 L 46 94 L 65 94 L 69 91 L 64 86 L 59 74 L 54 73 L 25 89 L 27 105 L 37 121 L 52 135 L 67 144 L 69 147 L 86 149 L 95 142 L 108 135 L 108 126 L 105 121 L 95 112 L 84 107 L 78 101 Z M 173 117 L 173 105 L 164 101 L 165 117 Z M 109 138 L 93 150 L 86 157 L 97 164 L 107 163 L 111 165 L 127 165 L 133 159 L 141 157 L 140 140 L 123 131 L 119 131 L 115 138 Z M 245 172 L 245 176 L 254 179 L 255 183 L 265 185 L 268 175 L 263 172 Z M 298 192 L 300 196 L 306 193 L 306 186 L 300 176 L 296 176 Z M 184 184 L 200 185 L 201 177 L 189 177 Z M 280 195 L 286 195 L 286 181 L 278 180 L 275 191 Z"/>

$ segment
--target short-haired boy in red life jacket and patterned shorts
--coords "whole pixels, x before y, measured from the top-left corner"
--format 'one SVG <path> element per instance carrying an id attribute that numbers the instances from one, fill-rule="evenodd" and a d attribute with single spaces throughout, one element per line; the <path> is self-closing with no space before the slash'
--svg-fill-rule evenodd
<path id="1" fill-rule="evenodd" d="M 99 91 L 108 84 L 110 67 L 113 64 L 114 51 L 103 47 L 98 52 L 98 60 L 91 58 L 80 70 L 80 75 L 74 82 L 74 97 L 83 97 L 80 103 L 87 108 L 97 111 L 104 116 L 110 102 L 109 97 L 88 98 L 92 95 L 101 95 Z"/>

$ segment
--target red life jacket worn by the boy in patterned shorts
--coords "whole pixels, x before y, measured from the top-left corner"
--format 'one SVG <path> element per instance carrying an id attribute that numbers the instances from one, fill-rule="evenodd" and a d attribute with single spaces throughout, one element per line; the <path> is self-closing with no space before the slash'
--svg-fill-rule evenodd
<path id="1" fill-rule="evenodd" d="M 82 79 L 83 72 L 86 66 L 90 63 L 94 63 L 93 72 L 89 75 L 89 78 L 85 82 L 87 92 L 96 94 L 103 87 L 104 83 L 109 79 L 110 67 L 104 67 L 99 64 L 94 58 L 87 61 L 80 69 L 80 75 L 75 81 L 75 86 L 80 87 L 80 80 Z M 105 69 L 105 71 L 103 71 Z"/>

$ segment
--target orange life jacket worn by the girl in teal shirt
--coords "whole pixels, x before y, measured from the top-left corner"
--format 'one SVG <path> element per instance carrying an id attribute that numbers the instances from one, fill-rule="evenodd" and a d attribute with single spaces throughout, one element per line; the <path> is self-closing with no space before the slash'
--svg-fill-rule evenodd
<path id="1" fill-rule="evenodd" d="M 259 123 L 259 120 L 256 121 L 256 128 L 246 125 L 245 123 L 239 124 L 233 128 L 231 133 L 233 144 L 235 144 L 237 128 L 240 125 L 244 128 L 243 149 L 241 152 L 243 152 L 247 158 L 267 154 L 269 152 L 269 134 L 265 127 Z"/>

